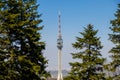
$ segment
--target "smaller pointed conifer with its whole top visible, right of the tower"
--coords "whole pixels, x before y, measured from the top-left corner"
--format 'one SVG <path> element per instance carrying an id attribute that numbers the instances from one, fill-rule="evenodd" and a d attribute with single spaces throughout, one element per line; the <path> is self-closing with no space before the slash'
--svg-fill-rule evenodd
<path id="1" fill-rule="evenodd" d="M 103 63 L 100 50 L 102 45 L 97 35 L 98 30 L 93 30 L 91 24 L 84 28 L 84 32 L 80 32 L 82 37 L 76 37 L 73 47 L 79 51 L 72 53 L 76 62 L 71 62 L 71 71 L 66 80 L 104 80 Z"/>

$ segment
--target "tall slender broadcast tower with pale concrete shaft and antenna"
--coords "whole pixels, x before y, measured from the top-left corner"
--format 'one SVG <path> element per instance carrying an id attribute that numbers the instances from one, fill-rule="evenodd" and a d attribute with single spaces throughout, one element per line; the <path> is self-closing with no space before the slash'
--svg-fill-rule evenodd
<path id="1" fill-rule="evenodd" d="M 58 48 L 58 77 L 57 80 L 63 80 L 62 77 L 62 65 L 61 65 L 61 57 L 62 57 L 62 47 L 63 47 L 63 40 L 61 35 L 61 25 L 60 25 L 60 12 L 58 14 L 58 39 L 57 39 L 57 48 Z"/>

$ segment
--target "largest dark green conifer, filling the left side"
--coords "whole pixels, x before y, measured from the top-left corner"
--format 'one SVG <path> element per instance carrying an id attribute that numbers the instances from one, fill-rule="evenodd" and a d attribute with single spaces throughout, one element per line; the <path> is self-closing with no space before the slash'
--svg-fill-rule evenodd
<path id="1" fill-rule="evenodd" d="M 37 0 L 0 0 L 0 78 L 40 80 L 49 73 Z"/>

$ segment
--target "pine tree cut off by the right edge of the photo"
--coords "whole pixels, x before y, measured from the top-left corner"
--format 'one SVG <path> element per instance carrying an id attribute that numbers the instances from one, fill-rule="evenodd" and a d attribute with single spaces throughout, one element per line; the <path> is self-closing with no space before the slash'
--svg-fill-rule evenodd
<path id="1" fill-rule="evenodd" d="M 118 4 L 118 10 L 115 13 L 116 19 L 111 20 L 112 27 L 110 27 L 112 34 L 109 34 L 109 39 L 115 46 L 110 50 L 112 62 L 109 66 L 113 72 L 113 79 L 120 79 L 120 4 Z"/>

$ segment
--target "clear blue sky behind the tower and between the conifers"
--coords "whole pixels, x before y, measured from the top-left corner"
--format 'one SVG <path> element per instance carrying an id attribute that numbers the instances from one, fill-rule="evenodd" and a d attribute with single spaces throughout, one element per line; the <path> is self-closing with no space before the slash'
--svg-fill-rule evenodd
<path id="1" fill-rule="evenodd" d="M 62 50 L 62 68 L 70 69 L 69 62 L 72 59 L 70 53 L 76 50 L 72 48 L 75 37 L 83 31 L 88 24 L 98 29 L 98 37 L 101 37 L 101 50 L 103 57 L 108 57 L 108 51 L 113 44 L 108 40 L 111 33 L 110 20 L 115 19 L 114 13 L 117 10 L 119 0 L 38 0 L 40 4 L 38 12 L 42 13 L 41 19 L 44 29 L 41 31 L 42 40 L 46 43 L 45 57 L 49 60 L 48 70 L 57 69 L 57 35 L 58 35 L 58 11 L 61 12 L 61 29 L 64 41 Z M 109 61 L 109 59 L 108 59 Z"/>

